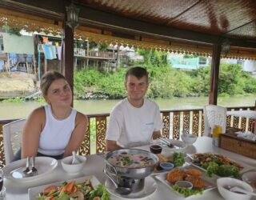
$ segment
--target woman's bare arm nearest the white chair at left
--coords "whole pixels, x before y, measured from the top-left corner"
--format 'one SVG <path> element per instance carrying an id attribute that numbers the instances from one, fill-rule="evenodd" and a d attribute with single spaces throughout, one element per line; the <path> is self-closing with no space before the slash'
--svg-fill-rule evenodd
<path id="1" fill-rule="evenodd" d="M 39 137 L 46 123 L 43 107 L 34 110 L 26 120 L 22 132 L 22 158 L 38 154 Z"/>

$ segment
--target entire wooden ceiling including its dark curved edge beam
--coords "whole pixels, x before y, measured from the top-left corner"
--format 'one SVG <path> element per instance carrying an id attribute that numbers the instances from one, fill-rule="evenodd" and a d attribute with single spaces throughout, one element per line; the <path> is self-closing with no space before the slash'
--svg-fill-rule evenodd
<path id="1" fill-rule="evenodd" d="M 113 36 L 256 48 L 255 0 L 74 0 L 80 25 Z M 61 21 L 70 0 L 1 0 L 0 6 Z"/>

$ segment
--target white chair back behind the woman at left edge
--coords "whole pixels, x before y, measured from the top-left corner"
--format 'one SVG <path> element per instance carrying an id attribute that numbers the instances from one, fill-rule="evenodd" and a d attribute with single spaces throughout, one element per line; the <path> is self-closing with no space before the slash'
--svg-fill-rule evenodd
<path id="1" fill-rule="evenodd" d="M 21 147 L 22 130 L 26 119 L 19 119 L 2 126 L 3 148 L 5 152 L 6 165 L 14 158 L 14 154 Z"/>

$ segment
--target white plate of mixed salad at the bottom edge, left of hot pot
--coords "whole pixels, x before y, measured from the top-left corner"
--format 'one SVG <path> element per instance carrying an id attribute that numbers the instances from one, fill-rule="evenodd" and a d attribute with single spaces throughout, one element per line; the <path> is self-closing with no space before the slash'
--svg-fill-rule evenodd
<path id="1" fill-rule="evenodd" d="M 54 182 L 29 189 L 29 199 L 110 199 L 110 194 L 96 177 L 86 176 Z"/>

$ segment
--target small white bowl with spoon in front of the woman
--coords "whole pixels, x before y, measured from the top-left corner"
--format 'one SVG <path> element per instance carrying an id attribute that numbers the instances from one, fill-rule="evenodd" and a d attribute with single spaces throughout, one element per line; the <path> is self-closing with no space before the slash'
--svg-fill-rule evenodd
<path id="1" fill-rule="evenodd" d="M 62 167 L 63 170 L 65 170 L 66 172 L 70 173 L 70 174 L 75 174 L 78 173 L 82 170 L 83 166 L 86 163 L 86 157 L 82 156 L 82 155 L 77 155 L 78 160 L 80 161 L 80 163 L 78 164 L 71 164 L 72 162 L 72 156 L 68 156 L 66 158 L 62 159 Z"/>

